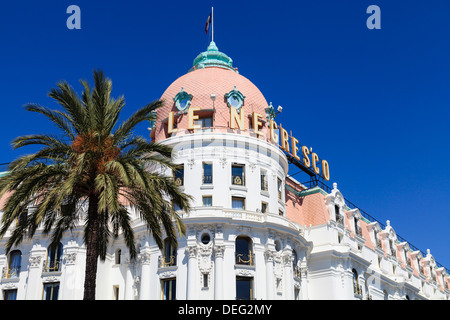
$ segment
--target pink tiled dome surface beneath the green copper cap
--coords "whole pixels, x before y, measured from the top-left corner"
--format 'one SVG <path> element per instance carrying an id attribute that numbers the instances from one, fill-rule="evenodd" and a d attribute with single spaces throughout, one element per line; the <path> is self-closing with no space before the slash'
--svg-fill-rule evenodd
<path id="1" fill-rule="evenodd" d="M 257 112 L 262 115 L 263 125 L 260 131 L 266 132 L 265 108 L 268 107 L 268 104 L 261 91 L 247 78 L 234 70 L 222 67 L 206 67 L 194 69 L 179 77 L 161 96 L 161 99 L 164 100 L 164 106 L 157 111 L 155 128 L 152 133 L 155 141 L 161 141 L 168 137 L 167 118 L 171 111 L 175 113 L 177 134 L 180 134 L 181 131 L 186 132 L 188 114 L 180 112 L 174 101 L 174 98 L 182 89 L 186 94 L 192 95 L 190 106 L 201 109 L 196 114 L 212 115 L 214 130 L 229 128 L 230 108 L 225 95 L 235 87 L 245 97 L 241 109 L 245 110 L 245 129 L 251 128 L 251 115 L 253 112 Z M 212 94 L 216 97 L 214 101 L 211 99 Z"/>

